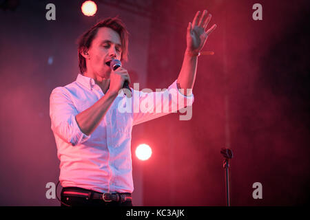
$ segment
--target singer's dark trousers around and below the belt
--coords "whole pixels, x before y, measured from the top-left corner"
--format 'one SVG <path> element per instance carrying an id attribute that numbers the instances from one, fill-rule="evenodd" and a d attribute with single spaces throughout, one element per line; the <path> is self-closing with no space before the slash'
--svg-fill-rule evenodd
<path id="1" fill-rule="evenodd" d="M 132 206 L 132 201 L 103 201 L 102 199 L 92 199 L 85 197 L 77 197 L 77 196 L 68 196 L 63 195 L 64 190 L 70 189 L 79 189 L 85 190 L 87 192 L 94 192 L 92 190 L 87 190 L 84 188 L 78 187 L 65 187 L 61 190 L 61 206 L 101 206 L 101 207 L 109 207 L 109 206 Z"/>

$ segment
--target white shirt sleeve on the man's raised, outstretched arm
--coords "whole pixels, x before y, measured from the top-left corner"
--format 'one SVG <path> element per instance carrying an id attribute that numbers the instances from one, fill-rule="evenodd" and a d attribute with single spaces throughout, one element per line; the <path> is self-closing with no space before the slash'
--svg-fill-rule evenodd
<path id="1" fill-rule="evenodd" d="M 194 94 L 184 96 L 178 90 L 176 80 L 168 89 L 161 91 L 145 91 L 133 90 L 134 96 L 134 125 L 159 118 L 169 113 L 188 106 L 192 106 L 194 102 Z"/>

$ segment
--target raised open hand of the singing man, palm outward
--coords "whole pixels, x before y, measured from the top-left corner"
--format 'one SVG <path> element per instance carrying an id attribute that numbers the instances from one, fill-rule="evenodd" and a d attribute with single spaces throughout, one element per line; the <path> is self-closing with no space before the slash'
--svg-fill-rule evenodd
<path id="1" fill-rule="evenodd" d="M 216 29 L 216 24 L 214 24 L 209 30 L 207 30 L 207 25 L 210 20 L 211 14 L 207 16 L 207 10 L 204 10 L 202 15 L 200 11 L 196 13 L 193 23 L 189 22 L 186 35 L 186 50 L 190 54 L 198 54 L 200 50 L 203 49 L 209 34 Z"/>

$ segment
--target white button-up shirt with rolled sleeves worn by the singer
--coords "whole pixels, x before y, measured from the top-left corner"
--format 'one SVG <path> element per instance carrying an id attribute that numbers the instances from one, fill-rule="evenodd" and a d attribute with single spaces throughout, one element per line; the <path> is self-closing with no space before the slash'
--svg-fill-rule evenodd
<path id="1" fill-rule="evenodd" d="M 172 90 L 176 92 L 171 92 L 169 99 L 165 92 Z M 99 126 L 90 135 L 85 135 L 75 116 L 104 96 L 101 88 L 94 79 L 79 74 L 73 83 L 53 89 L 50 96 L 51 128 L 61 162 L 59 181 L 63 187 L 132 192 L 132 126 L 166 115 L 167 111 L 163 112 L 162 107 L 169 106 L 175 111 L 175 105 L 180 109 L 194 102 L 193 95 L 180 94 L 176 81 L 166 91 L 145 93 L 132 89 L 132 94 L 132 98 L 127 98 L 123 92 L 119 94 Z M 186 104 L 179 104 L 179 107 L 181 99 Z M 145 110 L 150 106 L 154 107 L 153 112 Z"/>

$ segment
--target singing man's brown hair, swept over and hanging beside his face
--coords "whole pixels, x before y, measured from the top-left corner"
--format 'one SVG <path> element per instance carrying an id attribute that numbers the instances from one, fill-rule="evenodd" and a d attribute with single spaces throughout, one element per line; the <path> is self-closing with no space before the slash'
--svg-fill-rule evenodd
<path id="1" fill-rule="evenodd" d="M 81 53 L 83 53 L 86 48 L 90 48 L 90 45 L 92 45 L 92 41 L 94 40 L 98 29 L 103 27 L 111 28 L 119 34 L 122 44 L 121 61 L 127 61 L 129 33 L 127 32 L 125 24 L 123 23 L 123 21 L 121 21 L 121 19 L 118 19 L 118 17 L 107 18 L 103 21 L 99 21 L 98 23 L 96 23 L 96 25 L 90 28 L 90 30 L 87 30 L 87 32 L 85 32 L 78 40 L 78 57 L 81 74 L 83 74 L 83 72 L 85 72 L 87 69 L 86 60 Z"/>

